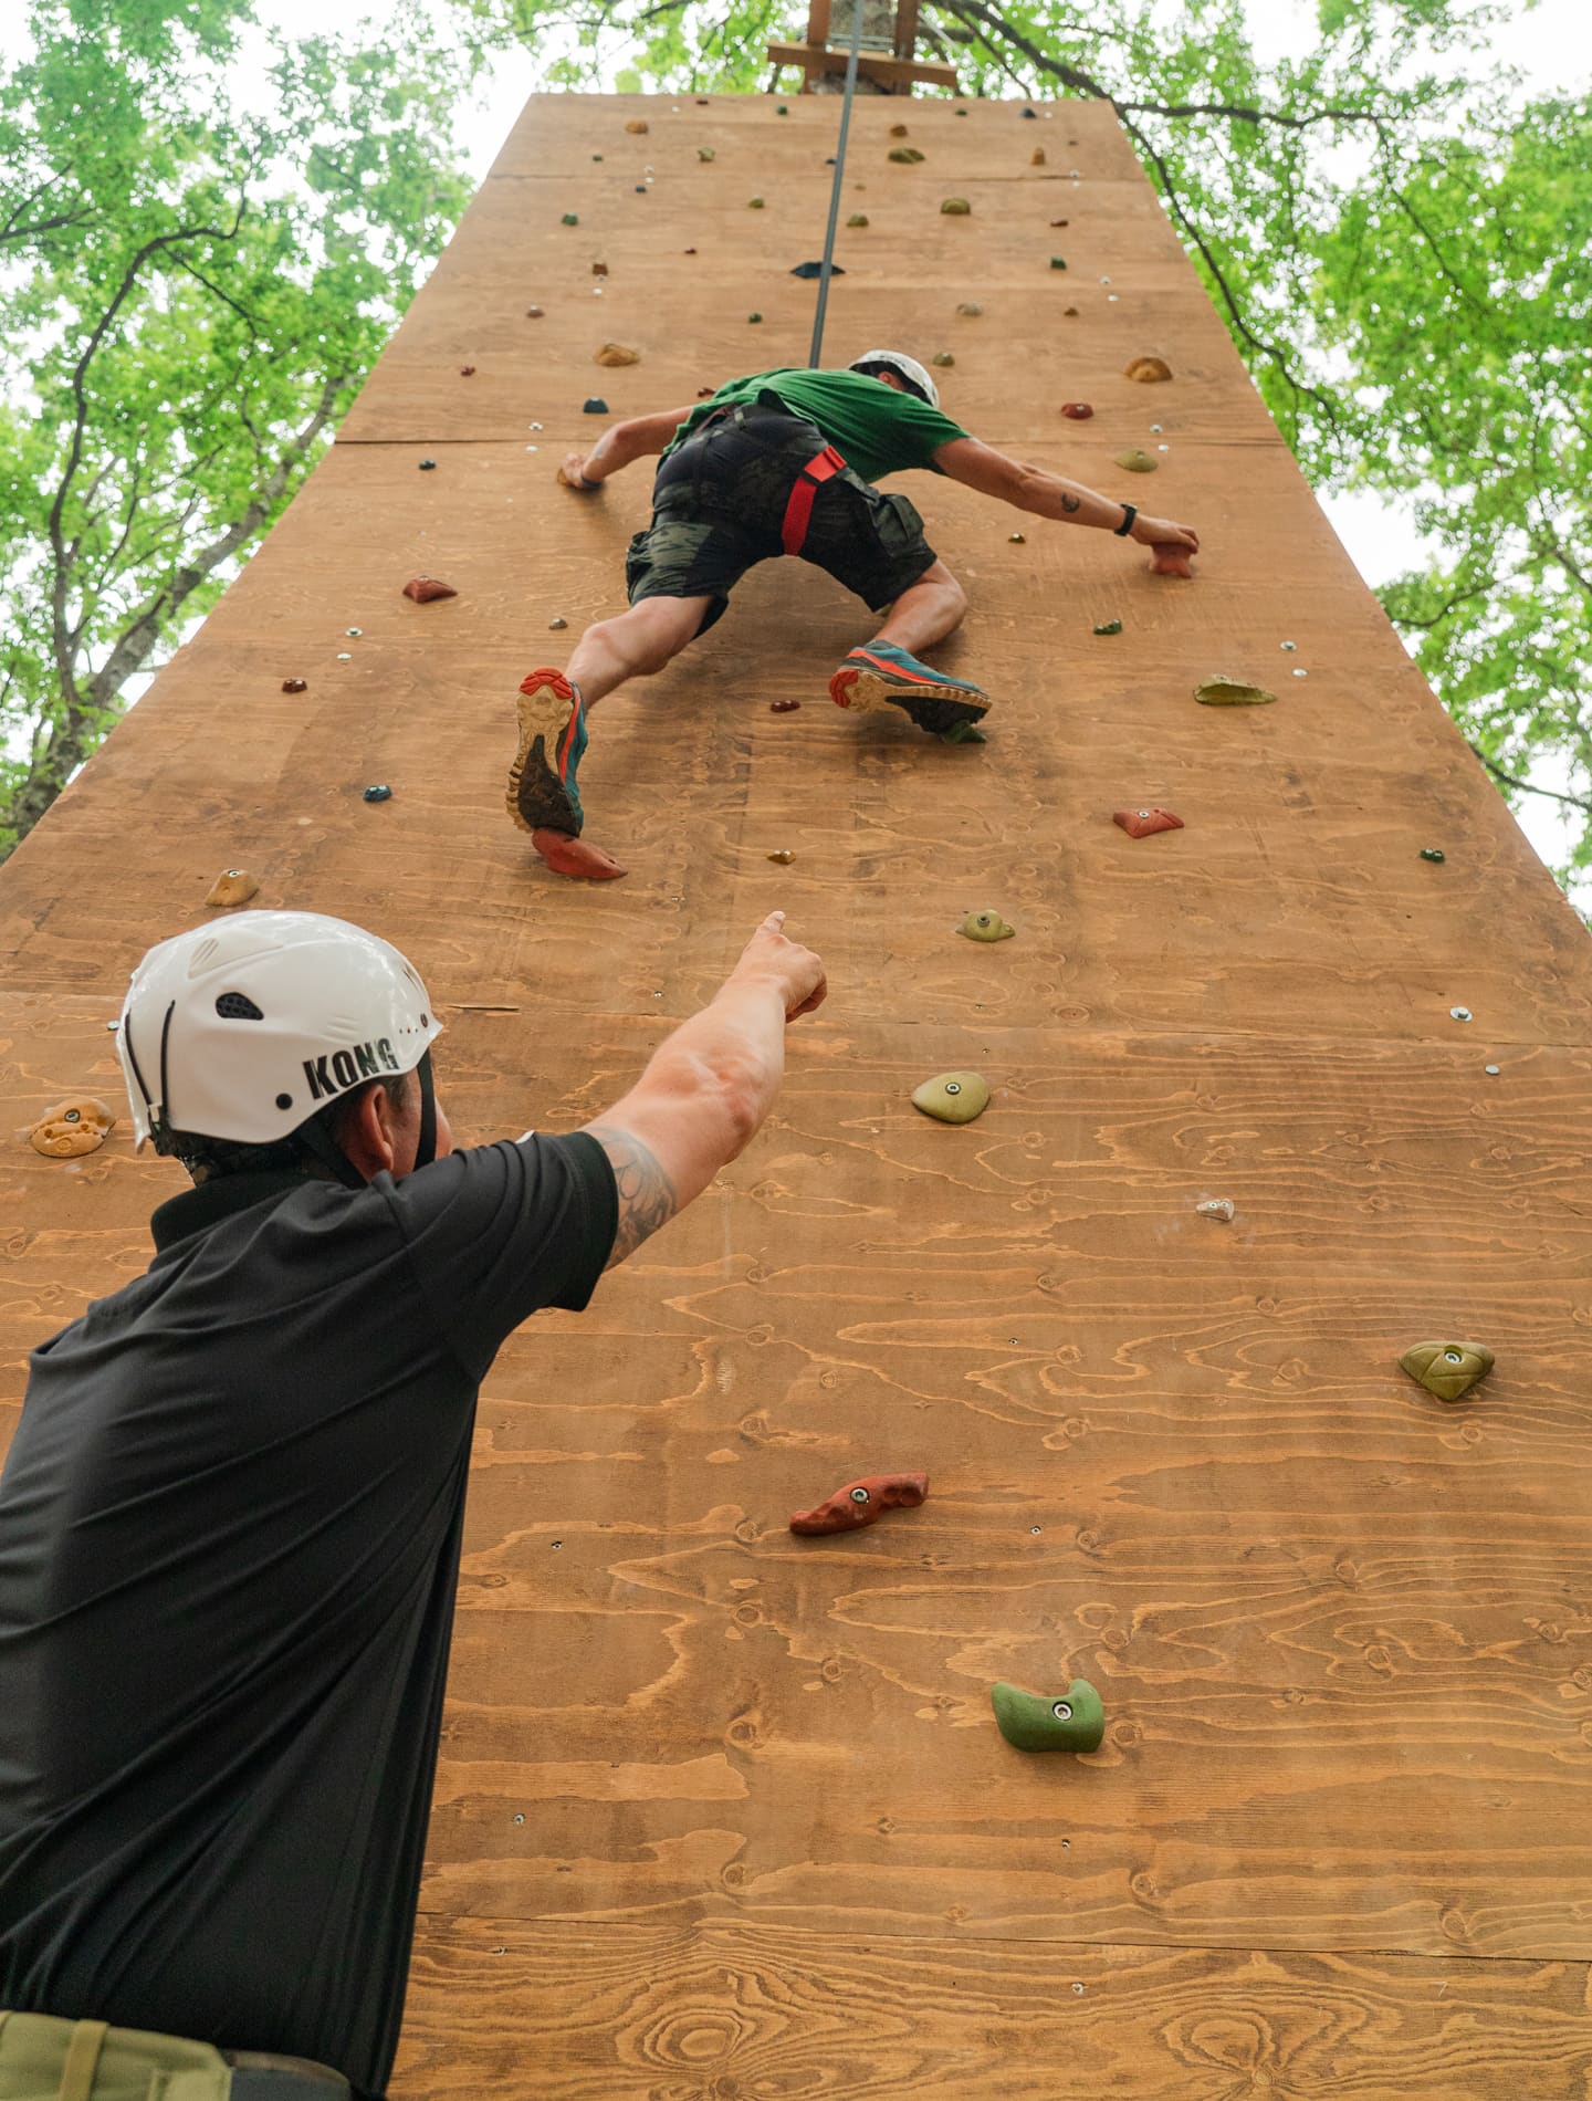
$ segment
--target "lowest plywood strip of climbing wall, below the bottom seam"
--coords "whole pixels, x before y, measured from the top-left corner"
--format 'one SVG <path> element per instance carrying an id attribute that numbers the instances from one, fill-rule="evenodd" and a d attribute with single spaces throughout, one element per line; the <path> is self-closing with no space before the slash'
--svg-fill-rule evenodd
<path id="1" fill-rule="evenodd" d="M 504 2038 L 468 2067 L 460 2004 L 491 2004 Z M 1581 1964 L 506 1918 L 422 1931 L 393 2095 L 1581 2101 L 1588 2078 Z"/>

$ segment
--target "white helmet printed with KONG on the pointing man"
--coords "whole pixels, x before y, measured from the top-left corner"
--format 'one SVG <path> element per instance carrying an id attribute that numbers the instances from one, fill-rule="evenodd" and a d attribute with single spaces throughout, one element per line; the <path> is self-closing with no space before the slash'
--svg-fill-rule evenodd
<path id="1" fill-rule="evenodd" d="M 242 912 L 149 950 L 116 1048 L 139 1147 L 172 1130 L 271 1145 L 363 1080 L 414 1072 L 441 1027 L 414 964 L 363 927 Z"/>

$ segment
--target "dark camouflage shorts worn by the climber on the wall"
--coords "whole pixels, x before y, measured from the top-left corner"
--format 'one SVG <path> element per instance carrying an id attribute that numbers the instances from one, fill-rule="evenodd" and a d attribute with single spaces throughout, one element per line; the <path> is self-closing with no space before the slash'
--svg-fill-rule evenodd
<path id="1" fill-rule="evenodd" d="M 746 571 L 785 553 L 792 485 L 821 448 L 813 424 L 762 410 L 678 445 L 657 471 L 653 521 L 626 555 L 630 603 L 706 597 L 706 635 Z M 880 611 L 937 557 L 905 496 L 882 496 L 846 469 L 817 487 L 800 559 Z"/>

